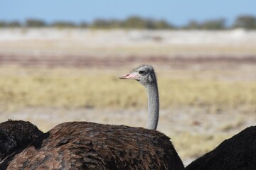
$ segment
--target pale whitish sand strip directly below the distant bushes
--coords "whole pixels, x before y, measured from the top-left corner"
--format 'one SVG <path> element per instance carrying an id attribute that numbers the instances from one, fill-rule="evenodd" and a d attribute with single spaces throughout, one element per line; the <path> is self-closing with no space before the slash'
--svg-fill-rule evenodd
<path id="1" fill-rule="evenodd" d="M 256 31 L 0 29 L 0 54 L 245 56 L 256 54 Z"/>

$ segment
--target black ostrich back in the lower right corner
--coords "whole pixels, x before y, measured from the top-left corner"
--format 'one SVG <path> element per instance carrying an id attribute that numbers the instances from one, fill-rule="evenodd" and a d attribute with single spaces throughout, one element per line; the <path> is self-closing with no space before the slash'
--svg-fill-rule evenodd
<path id="1" fill-rule="evenodd" d="M 224 140 L 186 166 L 187 170 L 252 170 L 256 169 L 256 126 L 242 130 Z"/>

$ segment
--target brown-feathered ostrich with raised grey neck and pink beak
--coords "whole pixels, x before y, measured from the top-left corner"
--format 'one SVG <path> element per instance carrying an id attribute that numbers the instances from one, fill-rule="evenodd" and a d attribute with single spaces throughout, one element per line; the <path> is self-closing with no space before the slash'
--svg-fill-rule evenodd
<path id="1" fill-rule="evenodd" d="M 120 79 L 136 79 L 146 87 L 147 129 L 62 123 L 0 164 L 0 169 L 184 169 L 169 137 L 155 130 L 159 96 L 153 67 L 142 65 Z"/>

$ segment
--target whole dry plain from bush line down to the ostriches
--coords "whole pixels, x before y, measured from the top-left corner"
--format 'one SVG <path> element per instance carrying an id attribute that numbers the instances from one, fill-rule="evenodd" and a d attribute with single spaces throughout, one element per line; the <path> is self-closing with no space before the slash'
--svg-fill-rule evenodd
<path id="1" fill-rule="evenodd" d="M 0 64 L 1 122 L 145 127 L 144 87 L 118 77 L 152 64 L 158 130 L 184 164 L 256 124 L 253 31 L 2 29 Z"/>

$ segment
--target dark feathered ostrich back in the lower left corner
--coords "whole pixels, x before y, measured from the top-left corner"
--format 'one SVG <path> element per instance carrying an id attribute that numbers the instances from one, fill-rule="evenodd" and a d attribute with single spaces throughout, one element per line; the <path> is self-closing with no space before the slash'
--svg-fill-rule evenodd
<path id="1" fill-rule="evenodd" d="M 22 150 L 43 132 L 35 125 L 22 120 L 0 123 L 0 162 L 17 150 Z"/>

